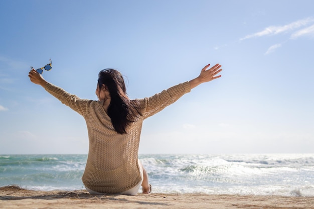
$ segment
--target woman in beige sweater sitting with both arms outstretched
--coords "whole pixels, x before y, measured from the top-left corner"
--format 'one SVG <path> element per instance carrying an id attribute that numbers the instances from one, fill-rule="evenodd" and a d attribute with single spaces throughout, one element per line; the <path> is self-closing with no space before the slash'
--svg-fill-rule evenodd
<path id="1" fill-rule="evenodd" d="M 175 85 L 143 99 L 130 100 L 121 73 L 104 69 L 98 74 L 98 101 L 81 99 L 47 82 L 32 69 L 31 81 L 44 87 L 73 110 L 81 114 L 87 125 L 89 151 L 82 181 L 92 194 L 120 193 L 135 195 L 140 186 L 150 193 L 148 175 L 137 158 L 142 122 L 178 100 L 197 85 L 221 75 L 216 64 L 206 65 L 198 77 Z"/>

